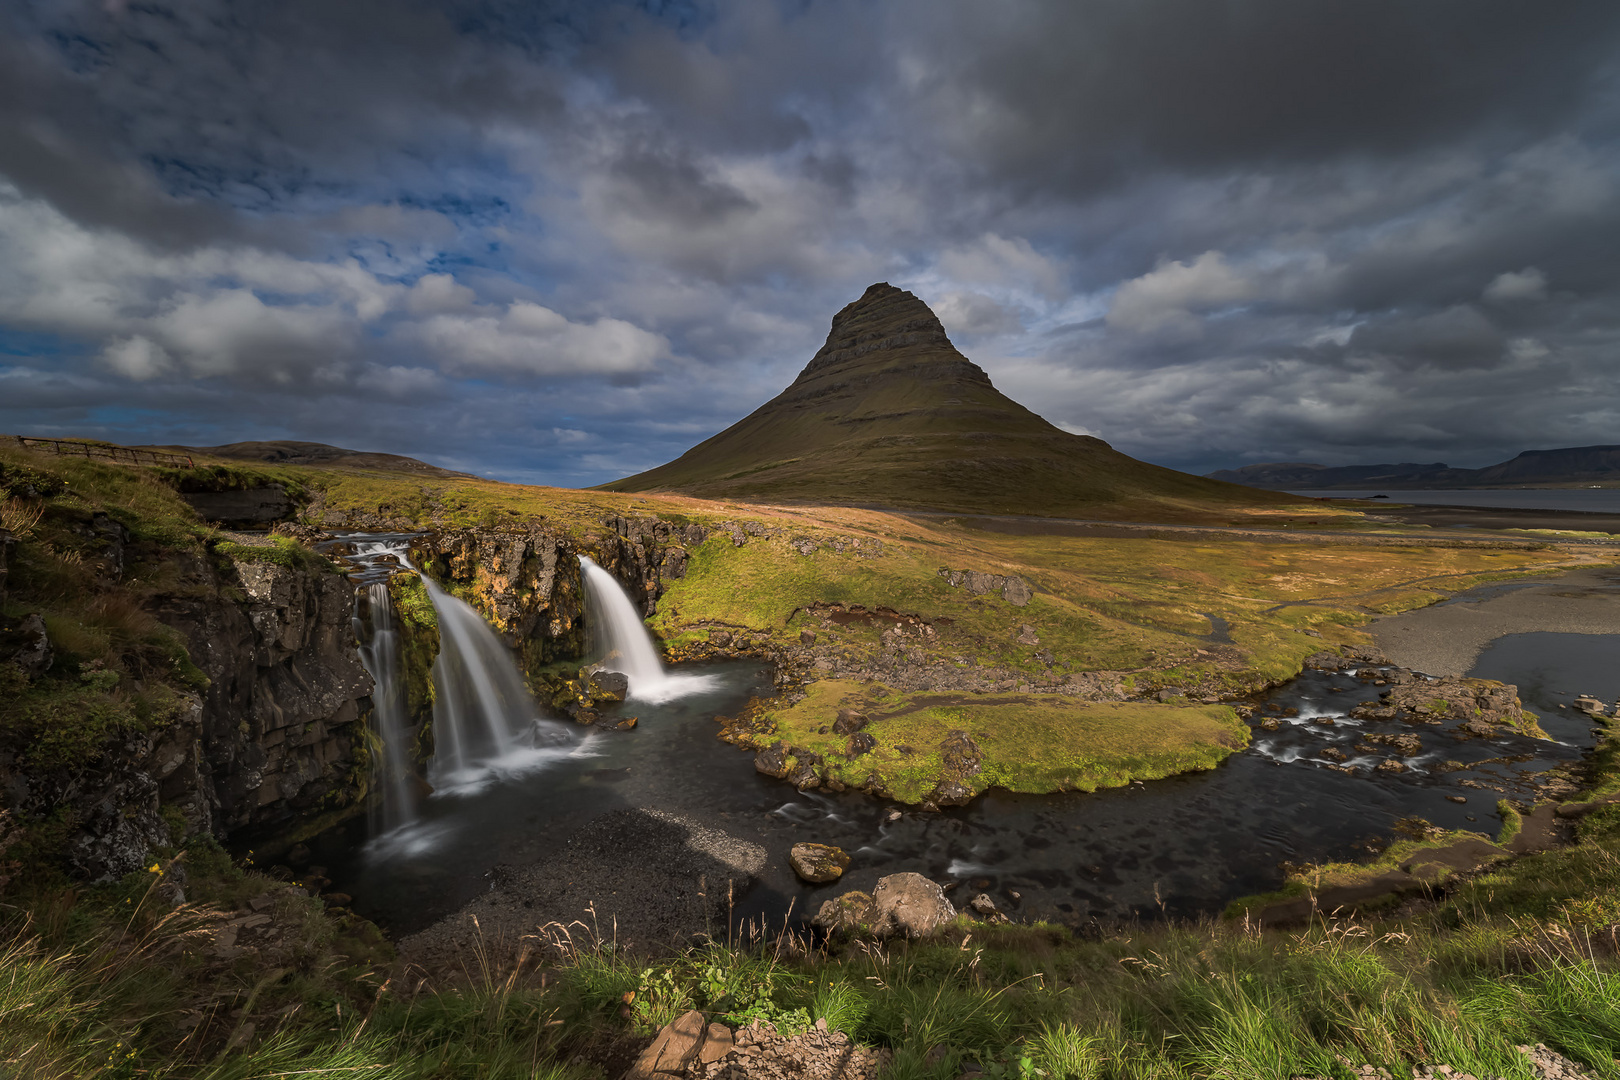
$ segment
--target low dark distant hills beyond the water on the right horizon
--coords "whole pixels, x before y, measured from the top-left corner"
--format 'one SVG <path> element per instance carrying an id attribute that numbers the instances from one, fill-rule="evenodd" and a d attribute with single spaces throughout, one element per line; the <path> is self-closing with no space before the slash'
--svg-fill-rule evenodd
<path id="1" fill-rule="evenodd" d="M 1620 447 L 1524 450 L 1510 461 L 1466 470 L 1448 465 L 1307 465 L 1273 461 L 1220 470 L 1210 479 L 1268 491 L 1354 491 L 1359 487 L 1526 487 L 1620 481 Z"/>

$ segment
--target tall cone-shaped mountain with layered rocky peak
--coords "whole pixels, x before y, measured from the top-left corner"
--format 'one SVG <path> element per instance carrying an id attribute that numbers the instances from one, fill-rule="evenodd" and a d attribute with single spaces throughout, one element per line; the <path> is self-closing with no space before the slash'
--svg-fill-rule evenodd
<path id="1" fill-rule="evenodd" d="M 912 293 L 873 285 L 792 385 L 604 491 L 1040 517 L 1200 517 L 1283 505 L 1074 436 L 1013 402 Z"/>

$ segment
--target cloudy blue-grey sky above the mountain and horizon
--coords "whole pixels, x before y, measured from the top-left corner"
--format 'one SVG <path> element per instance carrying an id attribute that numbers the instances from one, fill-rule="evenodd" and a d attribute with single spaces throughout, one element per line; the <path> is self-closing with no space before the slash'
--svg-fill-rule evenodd
<path id="1" fill-rule="evenodd" d="M 0 431 L 598 484 L 883 280 L 1187 471 L 1617 444 L 1620 3 L 0 5 Z"/>

